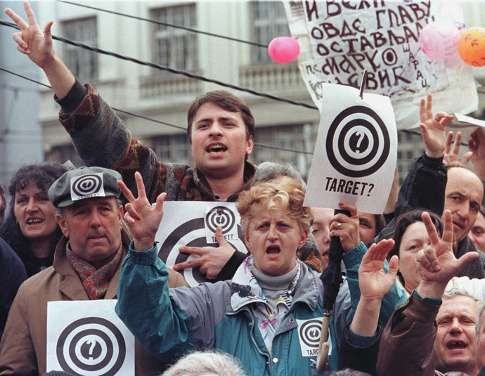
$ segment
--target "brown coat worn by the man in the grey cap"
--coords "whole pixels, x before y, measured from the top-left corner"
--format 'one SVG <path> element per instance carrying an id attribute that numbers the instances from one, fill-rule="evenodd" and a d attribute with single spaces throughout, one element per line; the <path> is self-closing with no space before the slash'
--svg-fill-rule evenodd
<path id="1" fill-rule="evenodd" d="M 67 260 L 62 238 L 56 248 L 54 264 L 27 279 L 18 290 L 0 342 L 0 375 L 31 376 L 46 372 L 47 302 L 89 300 L 79 275 Z M 129 237 L 123 234 L 124 256 Z M 116 299 L 119 269 L 113 276 L 105 299 Z M 169 287 L 187 285 L 183 277 L 169 269 Z M 135 375 L 153 375 L 164 364 L 135 342 Z"/>

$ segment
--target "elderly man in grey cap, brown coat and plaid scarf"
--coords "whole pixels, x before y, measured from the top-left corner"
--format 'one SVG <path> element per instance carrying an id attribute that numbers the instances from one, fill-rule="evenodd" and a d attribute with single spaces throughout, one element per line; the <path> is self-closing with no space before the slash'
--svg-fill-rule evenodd
<path id="1" fill-rule="evenodd" d="M 117 171 L 86 167 L 67 171 L 49 189 L 64 236 L 53 266 L 20 286 L 0 342 L 0 375 L 46 372 L 47 302 L 116 299 L 119 268 L 130 241 L 122 229 L 117 179 Z M 179 273 L 169 273 L 172 287 L 185 285 Z M 136 375 L 163 369 L 136 342 Z"/>

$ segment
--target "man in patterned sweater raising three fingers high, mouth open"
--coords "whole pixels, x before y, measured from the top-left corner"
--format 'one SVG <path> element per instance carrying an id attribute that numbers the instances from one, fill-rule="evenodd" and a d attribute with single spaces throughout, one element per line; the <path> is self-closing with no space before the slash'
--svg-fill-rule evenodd
<path id="1" fill-rule="evenodd" d="M 24 7 L 28 23 L 6 9 L 20 27 L 13 39 L 18 51 L 44 70 L 61 106 L 60 122 L 86 165 L 119 171 L 133 192 L 134 172 L 139 171 L 150 202 L 163 192 L 172 201 L 235 201 L 240 191 L 250 188 L 257 175 L 254 164 L 246 160 L 252 153 L 254 117 L 244 101 L 227 91 L 211 91 L 195 98 L 187 115 L 195 167 L 166 164 L 132 137 L 92 86 L 80 84 L 67 69 L 52 46 L 53 22 L 47 22 L 42 32 L 27 1 Z M 245 254 L 235 252 L 221 230 L 216 231 L 216 240 L 218 248 L 181 247 L 181 251 L 198 254 L 197 266 L 208 278 L 225 280 L 232 277 Z M 311 252 L 305 254 L 309 254 L 311 267 L 317 265 L 321 271 L 318 247 L 310 244 L 309 248 Z"/>

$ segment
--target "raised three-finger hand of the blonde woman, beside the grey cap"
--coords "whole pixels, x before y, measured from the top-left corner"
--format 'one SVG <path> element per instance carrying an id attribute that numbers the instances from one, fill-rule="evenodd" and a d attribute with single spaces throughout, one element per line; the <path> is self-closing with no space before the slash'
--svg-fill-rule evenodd
<path id="1" fill-rule="evenodd" d="M 134 236 L 134 248 L 137 251 L 146 251 L 155 244 L 155 235 L 160 226 L 163 217 L 163 201 L 167 193 L 160 193 L 157 197 L 155 207 L 153 207 L 145 193 L 145 185 L 141 174 L 135 172 L 136 188 L 138 189 L 138 198 L 135 198 L 131 190 L 118 180 L 117 184 L 122 190 L 124 197 L 127 197 L 129 203 L 125 205 L 126 213 L 124 220 Z"/>

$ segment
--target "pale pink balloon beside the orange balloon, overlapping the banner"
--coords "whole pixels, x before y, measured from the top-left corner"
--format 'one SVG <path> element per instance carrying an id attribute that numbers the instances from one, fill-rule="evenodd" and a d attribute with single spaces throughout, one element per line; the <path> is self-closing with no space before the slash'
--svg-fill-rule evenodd
<path id="1" fill-rule="evenodd" d="M 434 21 L 420 32 L 420 47 L 425 55 L 443 61 L 451 58 L 458 51 L 460 32 L 452 22 Z"/>

